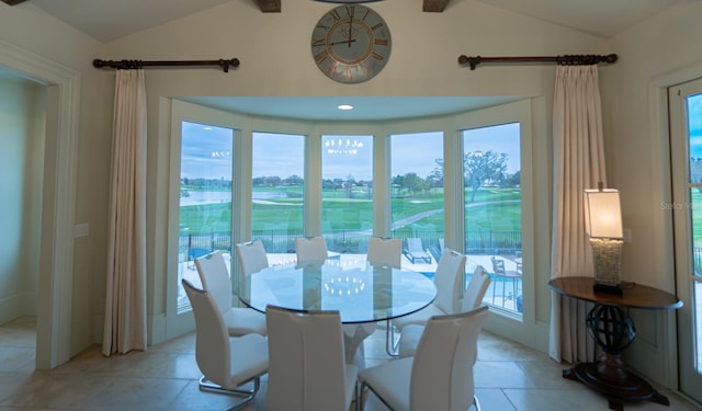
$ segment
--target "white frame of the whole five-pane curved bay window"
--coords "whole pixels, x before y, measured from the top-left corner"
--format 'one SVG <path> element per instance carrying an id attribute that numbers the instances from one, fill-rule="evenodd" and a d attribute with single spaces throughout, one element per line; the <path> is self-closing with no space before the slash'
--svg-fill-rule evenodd
<path id="1" fill-rule="evenodd" d="M 179 176 L 180 159 L 180 122 L 182 119 L 211 123 L 222 127 L 230 127 L 236 130 L 234 144 L 234 171 L 233 171 L 233 202 L 238 204 L 233 207 L 233 243 L 247 241 L 251 233 L 251 184 L 241 182 L 251 181 L 251 135 L 253 130 L 260 133 L 298 134 L 305 135 L 305 236 L 321 233 L 321 136 L 322 135 L 372 135 L 373 137 L 373 231 L 375 236 L 386 237 L 390 227 L 389 190 L 389 135 L 417 134 L 424 132 L 443 133 L 444 150 L 444 241 L 445 247 L 464 250 L 464 198 L 463 198 L 463 139 L 462 130 L 466 128 L 484 127 L 494 124 L 513 123 L 520 124 L 521 141 L 521 184 L 522 184 L 522 242 L 523 242 L 523 270 L 525 274 L 523 293 L 524 307 L 521 321 L 509 316 L 490 316 L 486 323 L 489 329 L 498 334 L 519 338 L 531 346 L 546 346 L 548 330 L 548 305 L 543 297 L 535 293 L 534 284 L 545 284 L 548 281 L 548 266 L 543 262 L 550 261 L 551 236 L 551 147 L 547 144 L 546 133 L 546 104 L 545 99 L 524 99 L 494 107 L 476 110 L 448 116 L 429 118 L 414 118 L 388 122 L 303 122 L 237 113 L 222 112 L 214 109 L 200 106 L 178 100 L 171 100 L 171 139 L 170 139 L 170 174 Z M 532 119 L 534 118 L 534 121 Z M 541 118 L 540 121 L 535 121 Z M 178 207 L 177 193 L 179 192 L 179 178 L 172 178 L 169 190 L 169 201 L 166 207 L 170 215 L 173 207 Z M 537 182 L 540 182 L 537 184 Z M 176 196 L 176 197 L 174 197 Z M 174 204 L 173 204 L 174 203 Z M 172 272 L 178 251 L 177 236 L 178 221 L 167 219 L 167 261 L 165 270 L 160 273 L 167 285 L 163 294 L 155 292 L 155 304 L 165 301 L 166 306 L 166 335 L 176 336 L 192 330 L 194 322 L 192 316 L 189 320 L 172 319 L 170 295 L 176 295 L 172 278 L 166 273 Z M 172 219 L 172 218 L 171 218 Z M 541 221 L 539 231 L 535 231 L 536 220 Z M 174 224 L 173 224 L 174 222 Z M 545 222 L 545 224 L 544 224 Z M 173 227 L 174 225 L 174 227 Z M 174 230 L 174 231 L 173 231 Z M 536 247 L 539 244 L 539 247 Z M 536 264 L 536 262 L 542 262 Z M 238 275 L 238 264 L 233 260 L 233 277 Z M 531 274 L 531 275 L 530 275 Z M 155 278 L 155 282 L 159 281 Z M 157 283 L 158 284 L 158 283 Z M 536 300 L 540 297 L 543 300 Z M 536 312 L 539 305 L 539 312 Z M 181 317 L 181 316 L 176 316 Z M 534 327 L 537 329 L 535 330 Z M 536 332 L 535 332 L 536 331 Z"/>

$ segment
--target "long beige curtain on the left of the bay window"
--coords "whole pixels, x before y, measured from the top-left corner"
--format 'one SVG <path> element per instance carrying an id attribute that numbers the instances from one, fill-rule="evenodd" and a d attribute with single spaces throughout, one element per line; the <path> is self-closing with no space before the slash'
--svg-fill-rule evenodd
<path id="1" fill-rule="evenodd" d="M 146 85 L 117 70 L 102 353 L 146 350 Z"/>

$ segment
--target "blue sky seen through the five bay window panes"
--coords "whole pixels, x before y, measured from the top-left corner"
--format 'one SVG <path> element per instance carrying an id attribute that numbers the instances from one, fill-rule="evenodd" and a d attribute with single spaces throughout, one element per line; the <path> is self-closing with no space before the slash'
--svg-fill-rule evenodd
<path id="1" fill-rule="evenodd" d="M 181 147 L 181 176 L 195 179 L 224 179 L 231 176 L 233 130 L 183 122 Z M 443 157 L 442 133 L 395 135 L 390 138 L 392 175 L 415 172 L 427 178 Z M 356 155 L 329 153 L 326 141 L 348 139 L 362 142 Z M 285 179 L 304 176 L 305 137 L 302 135 L 253 134 L 252 175 Z M 373 165 L 372 136 L 322 136 L 322 179 L 371 180 Z M 520 169 L 519 124 L 511 123 L 464 132 L 464 150 L 487 151 L 492 149 L 508 155 L 508 172 Z"/>

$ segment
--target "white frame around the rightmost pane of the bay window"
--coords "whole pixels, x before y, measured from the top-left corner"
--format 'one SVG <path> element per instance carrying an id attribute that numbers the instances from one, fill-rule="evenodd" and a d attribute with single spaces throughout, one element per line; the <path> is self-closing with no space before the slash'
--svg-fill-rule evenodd
<path id="1" fill-rule="evenodd" d="M 455 155 L 453 160 L 460 172 L 455 172 L 454 191 L 456 198 L 452 198 L 450 206 L 452 214 L 463 214 L 465 201 L 463 197 L 463 136 L 465 129 L 489 127 L 494 125 L 519 123 L 520 146 L 521 146 L 521 196 L 522 196 L 522 315 L 511 315 L 508 311 L 494 310 L 496 315 L 489 316 L 486 320 L 486 329 L 500 335 L 509 335 L 518 339 L 530 346 L 547 346 L 548 335 L 548 307 L 544 306 L 542 294 L 536 294 L 535 284 L 546 284 L 550 279 L 550 270 L 542 265 L 536 266 L 536 262 L 550 261 L 551 255 L 551 176 L 548 175 L 548 164 L 551 164 L 551 148 L 548 147 L 545 134 L 545 124 L 532 123 L 535 110 L 544 111 L 542 118 L 545 118 L 544 99 L 525 99 L 513 103 L 502 104 L 494 107 L 482 109 L 453 117 L 451 129 L 456 135 L 452 147 Z M 542 128 L 541 133 L 534 133 L 536 127 Z M 539 156 L 534 156 L 539 152 Z M 446 160 L 444 160 L 445 162 Z M 540 165 L 536 168 L 536 165 Z M 445 172 L 444 172 L 445 173 Z M 537 185 L 536 182 L 545 184 Z M 446 183 L 444 182 L 444 186 Z M 460 195 L 458 195 L 460 193 Z M 446 202 L 450 202 L 446 199 Z M 449 215 L 449 213 L 446 213 Z M 536 231 L 535 221 L 544 221 Z M 465 221 L 460 218 L 461 230 L 457 232 L 460 243 L 465 247 Z M 448 241 L 448 239 L 446 239 Z M 542 244 L 536 247 L 535 244 Z M 464 248 L 462 248 L 464 249 Z M 490 271 L 490 267 L 487 267 Z M 536 312 L 539 302 L 540 312 Z M 539 320 L 541 318 L 542 320 Z M 539 331 L 537 331 L 539 330 Z"/>

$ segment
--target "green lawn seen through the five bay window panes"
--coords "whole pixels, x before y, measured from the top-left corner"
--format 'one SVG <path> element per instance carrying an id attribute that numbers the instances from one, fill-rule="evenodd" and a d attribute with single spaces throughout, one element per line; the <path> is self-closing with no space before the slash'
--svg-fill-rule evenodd
<path id="1" fill-rule="evenodd" d="M 275 197 L 256 202 L 253 209 L 253 230 L 303 229 L 303 187 L 256 187 L 256 192 L 285 193 L 287 197 Z M 518 189 L 483 187 L 468 203 L 471 191 L 466 190 L 466 224 L 469 230 L 520 231 L 521 207 Z M 335 231 L 372 228 L 373 203 L 367 194 L 354 192 L 347 198 L 342 190 L 325 190 L 322 193 L 322 220 L 330 221 Z M 702 203 L 702 194 L 699 198 Z M 503 203 L 501 203 L 503 202 Z M 423 212 L 440 210 L 410 224 L 407 229 L 424 230 L 433 227 L 443 231 L 443 193 L 437 189 L 430 194 L 417 194 L 392 199 L 393 221 L 400 221 Z M 188 232 L 208 233 L 227 231 L 231 227 L 231 204 L 219 203 L 181 207 L 181 229 Z M 699 217 L 702 227 L 702 215 Z"/>

